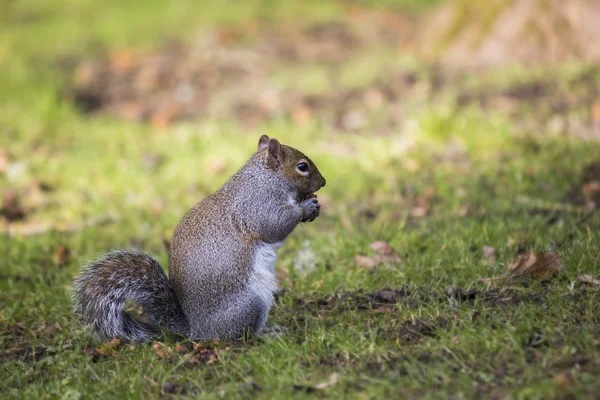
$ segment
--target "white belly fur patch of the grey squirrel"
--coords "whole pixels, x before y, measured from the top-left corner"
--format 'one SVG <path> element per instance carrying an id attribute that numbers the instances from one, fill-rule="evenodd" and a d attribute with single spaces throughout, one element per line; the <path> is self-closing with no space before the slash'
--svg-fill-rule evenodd
<path id="1" fill-rule="evenodd" d="M 263 300 L 267 310 L 273 305 L 273 293 L 277 289 L 275 262 L 277 261 L 277 249 L 281 244 L 281 242 L 260 243 L 254 254 L 250 287 Z"/>

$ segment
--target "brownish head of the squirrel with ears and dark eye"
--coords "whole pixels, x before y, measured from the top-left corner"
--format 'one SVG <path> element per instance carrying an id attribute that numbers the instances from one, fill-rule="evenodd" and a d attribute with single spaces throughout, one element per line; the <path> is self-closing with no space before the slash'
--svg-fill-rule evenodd
<path id="1" fill-rule="evenodd" d="M 265 152 L 267 168 L 283 176 L 296 188 L 298 201 L 315 197 L 314 193 L 325 186 L 325 178 L 317 166 L 293 147 L 262 135 L 258 141 L 258 151 Z"/>

